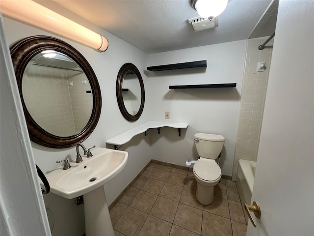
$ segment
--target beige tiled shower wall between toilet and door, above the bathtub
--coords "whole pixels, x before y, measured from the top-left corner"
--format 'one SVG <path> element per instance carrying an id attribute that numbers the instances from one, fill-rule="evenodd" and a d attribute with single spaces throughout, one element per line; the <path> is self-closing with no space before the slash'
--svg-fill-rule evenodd
<path id="1" fill-rule="evenodd" d="M 263 50 L 258 47 L 268 37 L 247 40 L 245 69 L 235 142 L 233 180 L 239 159 L 256 161 L 259 149 L 262 117 L 266 96 L 273 39 Z M 257 72 L 257 63 L 265 61 L 265 70 Z"/>

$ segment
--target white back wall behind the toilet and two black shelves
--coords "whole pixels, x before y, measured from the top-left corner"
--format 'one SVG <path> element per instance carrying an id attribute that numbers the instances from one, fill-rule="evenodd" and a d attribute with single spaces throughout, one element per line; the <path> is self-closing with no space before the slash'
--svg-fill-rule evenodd
<path id="1" fill-rule="evenodd" d="M 163 65 L 207 60 L 207 68 L 146 72 L 151 96 L 150 118 L 158 121 L 184 122 L 182 136 L 174 129 L 152 133 L 152 158 L 184 165 L 195 159 L 194 134 L 221 134 L 225 137 L 220 166 L 231 176 L 235 137 L 245 61 L 246 40 L 195 47 L 148 55 L 147 65 Z M 236 83 L 236 88 L 169 89 L 169 85 Z M 170 119 L 164 113 L 170 112 Z"/>

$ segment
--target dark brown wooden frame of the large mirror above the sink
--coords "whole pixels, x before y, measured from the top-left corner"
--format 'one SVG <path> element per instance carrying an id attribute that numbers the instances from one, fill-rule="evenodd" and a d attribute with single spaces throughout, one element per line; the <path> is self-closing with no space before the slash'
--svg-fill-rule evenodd
<path id="1" fill-rule="evenodd" d="M 86 126 L 78 133 L 68 137 L 59 137 L 45 131 L 40 127 L 27 111 L 23 94 L 22 78 L 27 63 L 36 54 L 45 50 L 55 50 L 72 58 L 81 67 L 89 80 L 93 93 L 93 109 Z M 84 141 L 95 129 L 102 107 L 101 91 L 97 77 L 87 60 L 68 43 L 51 36 L 31 36 L 24 38 L 10 47 L 13 67 L 22 100 L 23 110 L 30 140 L 49 148 L 69 148 Z"/>

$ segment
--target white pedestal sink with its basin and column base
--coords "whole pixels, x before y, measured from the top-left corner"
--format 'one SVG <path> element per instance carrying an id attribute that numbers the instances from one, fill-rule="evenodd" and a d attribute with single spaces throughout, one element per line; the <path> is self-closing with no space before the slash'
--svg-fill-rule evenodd
<path id="1" fill-rule="evenodd" d="M 68 170 L 60 166 L 46 175 L 50 191 L 67 199 L 83 195 L 86 236 L 114 236 L 103 185 L 123 170 L 128 152 L 97 148 L 82 158 Z"/>

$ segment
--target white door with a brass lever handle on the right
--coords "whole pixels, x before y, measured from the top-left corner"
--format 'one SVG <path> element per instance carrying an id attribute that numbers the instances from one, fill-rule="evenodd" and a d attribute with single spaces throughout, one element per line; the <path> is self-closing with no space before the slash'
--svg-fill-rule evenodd
<path id="1" fill-rule="evenodd" d="M 279 2 L 247 236 L 314 235 L 314 1 Z"/>

